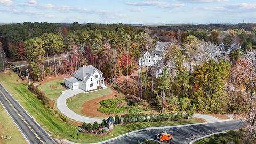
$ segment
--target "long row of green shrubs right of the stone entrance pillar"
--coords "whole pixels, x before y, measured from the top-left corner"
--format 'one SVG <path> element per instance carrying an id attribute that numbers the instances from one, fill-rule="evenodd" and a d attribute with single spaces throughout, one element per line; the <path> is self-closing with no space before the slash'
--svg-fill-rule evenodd
<path id="1" fill-rule="evenodd" d="M 178 116 L 177 116 L 178 115 Z M 174 113 L 161 113 L 161 114 L 144 114 L 144 113 L 138 113 L 138 114 L 125 114 L 121 117 L 124 118 L 124 123 L 134 123 L 134 122 L 164 122 L 164 121 L 173 121 L 173 120 L 179 120 L 184 117 L 184 115 Z"/>

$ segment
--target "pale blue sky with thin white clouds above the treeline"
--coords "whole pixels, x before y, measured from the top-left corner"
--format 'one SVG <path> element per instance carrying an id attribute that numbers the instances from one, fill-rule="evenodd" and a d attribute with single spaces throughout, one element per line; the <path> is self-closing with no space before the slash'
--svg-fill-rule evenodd
<path id="1" fill-rule="evenodd" d="M 256 1 L 0 0 L 0 19 L 0 23 L 242 23 L 256 22 Z"/>

